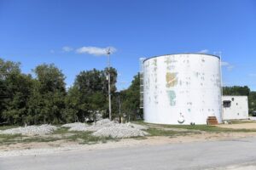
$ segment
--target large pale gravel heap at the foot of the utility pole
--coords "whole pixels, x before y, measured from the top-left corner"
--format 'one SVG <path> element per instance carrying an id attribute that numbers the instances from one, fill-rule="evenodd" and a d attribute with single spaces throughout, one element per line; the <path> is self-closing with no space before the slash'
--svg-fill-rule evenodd
<path id="1" fill-rule="evenodd" d="M 108 119 L 102 119 L 92 125 L 83 123 L 73 124 L 69 131 L 90 131 L 94 132 L 94 136 L 112 137 L 112 138 L 130 138 L 135 136 L 145 136 L 148 133 L 144 132 L 147 127 L 137 125 L 134 123 L 120 124 L 117 122 L 109 121 Z"/>

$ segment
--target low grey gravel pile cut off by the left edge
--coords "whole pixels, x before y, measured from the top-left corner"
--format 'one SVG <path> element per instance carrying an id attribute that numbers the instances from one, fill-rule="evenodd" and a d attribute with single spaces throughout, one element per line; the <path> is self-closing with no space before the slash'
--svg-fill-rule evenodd
<path id="1" fill-rule="evenodd" d="M 16 127 L 1 131 L 2 134 L 23 134 L 23 135 L 42 135 L 53 133 L 58 127 L 44 124 L 41 126 Z"/>

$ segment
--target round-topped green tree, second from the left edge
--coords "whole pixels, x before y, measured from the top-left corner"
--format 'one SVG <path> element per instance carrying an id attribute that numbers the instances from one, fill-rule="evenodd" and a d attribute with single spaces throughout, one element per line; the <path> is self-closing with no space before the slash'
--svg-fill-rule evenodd
<path id="1" fill-rule="evenodd" d="M 34 70 L 36 83 L 29 102 L 29 112 L 33 122 L 66 122 L 65 77 L 55 65 L 38 65 Z"/>

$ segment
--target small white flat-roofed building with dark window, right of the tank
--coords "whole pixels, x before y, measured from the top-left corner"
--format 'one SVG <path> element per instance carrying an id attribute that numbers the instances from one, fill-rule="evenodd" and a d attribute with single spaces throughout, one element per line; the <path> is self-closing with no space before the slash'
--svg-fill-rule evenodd
<path id="1" fill-rule="evenodd" d="M 248 119 L 247 96 L 223 96 L 223 120 Z"/>

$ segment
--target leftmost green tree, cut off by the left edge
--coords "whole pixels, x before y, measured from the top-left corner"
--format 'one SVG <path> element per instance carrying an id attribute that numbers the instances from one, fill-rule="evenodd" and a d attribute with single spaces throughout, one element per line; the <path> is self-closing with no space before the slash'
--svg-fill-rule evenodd
<path id="1" fill-rule="evenodd" d="M 20 72 L 20 63 L 0 59 L 1 122 L 26 122 L 27 99 L 31 95 L 32 76 Z"/>

